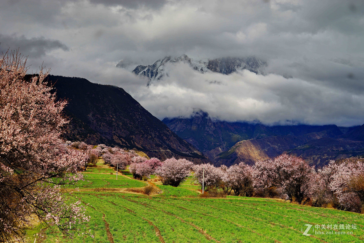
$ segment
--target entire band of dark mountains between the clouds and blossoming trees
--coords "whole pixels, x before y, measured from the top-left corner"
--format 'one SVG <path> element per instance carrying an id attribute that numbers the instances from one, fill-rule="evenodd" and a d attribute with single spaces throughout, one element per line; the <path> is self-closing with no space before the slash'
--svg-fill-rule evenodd
<path id="1" fill-rule="evenodd" d="M 215 165 L 253 164 L 284 152 L 316 166 L 364 155 L 364 125 L 266 126 L 218 121 L 201 110 L 191 118 L 166 118 L 163 123 L 122 88 L 83 78 L 50 75 L 48 80 L 58 97 L 68 100 L 64 111 L 71 122 L 65 137 L 72 141 L 137 148 L 161 159 L 210 160 Z"/>

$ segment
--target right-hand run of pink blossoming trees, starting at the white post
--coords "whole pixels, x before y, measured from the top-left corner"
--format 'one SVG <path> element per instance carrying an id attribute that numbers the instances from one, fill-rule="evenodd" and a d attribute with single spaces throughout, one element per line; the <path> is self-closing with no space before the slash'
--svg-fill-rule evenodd
<path id="1" fill-rule="evenodd" d="M 363 212 L 364 164 L 360 161 L 330 161 L 315 171 L 302 158 L 282 154 L 253 166 L 203 164 L 194 165 L 193 171 L 200 184 L 204 177 L 207 190 L 220 188 L 227 195 L 280 196 L 298 204 L 331 203 L 337 209 Z"/>

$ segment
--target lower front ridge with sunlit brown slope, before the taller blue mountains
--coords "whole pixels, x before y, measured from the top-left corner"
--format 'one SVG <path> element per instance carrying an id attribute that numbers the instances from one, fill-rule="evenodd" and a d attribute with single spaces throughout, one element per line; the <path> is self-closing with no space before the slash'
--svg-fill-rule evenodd
<path id="1" fill-rule="evenodd" d="M 312 146 L 310 144 L 317 144 Z M 333 144 L 331 144 L 333 143 Z M 320 146 L 318 146 L 318 144 Z M 364 143 L 361 143 L 364 145 Z M 344 146 L 334 149 L 332 146 Z M 320 147 L 320 149 L 318 149 Z M 314 148 L 314 149 L 313 149 Z M 331 152 L 330 152 L 331 151 Z M 350 153 L 348 153 L 350 151 Z M 362 145 L 353 144 L 349 140 L 337 139 L 332 130 L 308 133 L 300 136 L 269 136 L 261 139 L 249 139 L 237 142 L 229 150 L 218 154 L 214 161 L 217 164 L 235 164 L 244 161 L 254 164 L 259 160 L 274 158 L 283 152 L 301 156 L 310 164 L 323 166 L 329 160 L 348 158 L 363 154 Z"/>

